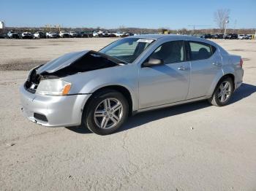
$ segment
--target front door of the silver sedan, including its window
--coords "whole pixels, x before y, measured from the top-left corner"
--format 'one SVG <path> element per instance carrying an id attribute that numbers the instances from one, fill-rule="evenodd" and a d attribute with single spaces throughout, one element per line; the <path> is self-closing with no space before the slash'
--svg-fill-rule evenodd
<path id="1" fill-rule="evenodd" d="M 139 106 L 151 106 L 184 101 L 189 90 L 190 63 L 186 61 L 184 41 L 170 41 L 160 45 L 149 56 L 163 64 L 139 69 Z"/>

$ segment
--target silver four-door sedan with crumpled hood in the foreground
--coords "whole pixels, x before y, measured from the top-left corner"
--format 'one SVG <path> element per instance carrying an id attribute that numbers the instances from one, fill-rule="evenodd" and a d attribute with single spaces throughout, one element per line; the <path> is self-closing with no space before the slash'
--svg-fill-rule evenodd
<path id="1" fill-rule="evenodd" d="M 129 36 L 29 71 L 20 87 L 22 111 L 40 125 L 83 124 L 106 135 L 138 112 L 205 99 L 225 106 L 243 81 L 242 64 L 207 39 Z"/>

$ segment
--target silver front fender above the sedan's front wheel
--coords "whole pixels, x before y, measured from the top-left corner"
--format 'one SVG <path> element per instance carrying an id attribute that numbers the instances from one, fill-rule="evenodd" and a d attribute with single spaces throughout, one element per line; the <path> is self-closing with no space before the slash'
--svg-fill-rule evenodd
<path id="1" fill-rule="evenodd" d="M 69 94 L 94 93 L 99 88 L 110 85 L 126 87 L 132 97 L 133 111 L 138 110 L 138 66 L 129 63 L 94 71 L 86 71 L 64 77 L 72 83 Z"/>

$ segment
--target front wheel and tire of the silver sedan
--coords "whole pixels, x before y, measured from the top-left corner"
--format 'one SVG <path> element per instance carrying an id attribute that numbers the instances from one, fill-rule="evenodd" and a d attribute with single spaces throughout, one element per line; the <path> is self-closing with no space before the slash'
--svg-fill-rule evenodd
<path id="1" fill-rule="evenodd" d="M 83 124 L 98 135 L 113 133 L 127 120 L 129 112 L 127 99 L 116 90 L 102 90 L 92 96 L 94 97 L 83 112 Z"/>

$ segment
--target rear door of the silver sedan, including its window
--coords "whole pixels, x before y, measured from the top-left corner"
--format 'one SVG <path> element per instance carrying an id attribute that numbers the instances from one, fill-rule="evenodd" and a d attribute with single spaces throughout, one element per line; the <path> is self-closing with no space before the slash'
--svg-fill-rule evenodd
<path id="1" fill-rule="evenodd" d="M 222 70 L 222 58 L 211 44 L 187 41 L 188 57 L 191 64 L 190 85 L 187 99 L 207 95 L 211 83 Z"/>

